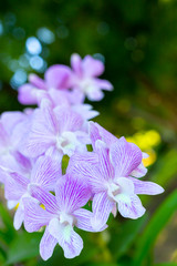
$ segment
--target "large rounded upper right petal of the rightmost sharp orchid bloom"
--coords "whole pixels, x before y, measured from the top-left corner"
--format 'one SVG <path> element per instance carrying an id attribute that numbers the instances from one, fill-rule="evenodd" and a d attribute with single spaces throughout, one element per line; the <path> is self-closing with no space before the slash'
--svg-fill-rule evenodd
<path id="1" fill-rule="evenodd" d="M 110 149 L 110 157 L 115 167 L 115 175 L 128 176 L 142 162 L 142 151 L 134 143 L 121 137 Z"/>

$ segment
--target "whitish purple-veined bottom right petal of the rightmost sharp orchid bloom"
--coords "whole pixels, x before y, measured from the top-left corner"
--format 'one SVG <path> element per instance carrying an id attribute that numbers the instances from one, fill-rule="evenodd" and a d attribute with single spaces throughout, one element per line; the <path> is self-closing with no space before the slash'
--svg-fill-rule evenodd
<path id="1" fill-rule="evenodd" d="M 140 200 L 135 194 L 118 200 L 118 212 L 125 218 L 139 218 L 144 215 L 145 211 Z"/>

